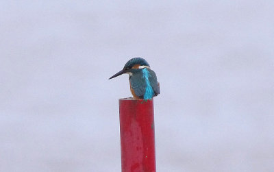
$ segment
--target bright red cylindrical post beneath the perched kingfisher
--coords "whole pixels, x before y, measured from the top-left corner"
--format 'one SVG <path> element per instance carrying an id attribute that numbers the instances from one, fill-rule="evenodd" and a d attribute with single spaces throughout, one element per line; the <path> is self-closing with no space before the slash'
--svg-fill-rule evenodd
<path id="1" fill-rule="evenodd" d="M 122 172 L 155 172 L 153 99 L 119 99 Z"/>

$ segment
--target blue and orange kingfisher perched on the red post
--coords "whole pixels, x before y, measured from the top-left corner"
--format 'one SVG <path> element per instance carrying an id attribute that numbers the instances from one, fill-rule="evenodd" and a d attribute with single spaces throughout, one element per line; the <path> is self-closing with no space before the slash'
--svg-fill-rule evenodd
<path id="1" fill-rule="evenodd" d="M 150 69 L 147 60 L 132 58 L 119 73 L 110 79 L 124 73 L 129 74 L 129 85 L 134 99 L 152 99 L 160 94 L 160 84 L 157 82 L 156 74 Z"/>

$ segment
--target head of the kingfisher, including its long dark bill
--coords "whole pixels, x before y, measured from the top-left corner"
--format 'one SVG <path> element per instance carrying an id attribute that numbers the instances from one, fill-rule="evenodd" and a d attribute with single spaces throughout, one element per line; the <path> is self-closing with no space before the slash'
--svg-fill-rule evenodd
<path id="1" fill-rule="evenodd" d="M 143 58 L 132 58 L 125 64 L 122 71 L 119 71 L 119 73 L 116 73 L 115 75 L 110 77 L 110 79 L 114 77 L 118 77 L 119 75 L 122 75 L 123 73 L 132 75 L 134 72 L 139 71 L 143 68 L 149 68 L 149 63 L 147 62 L 147 60 Z"/>

